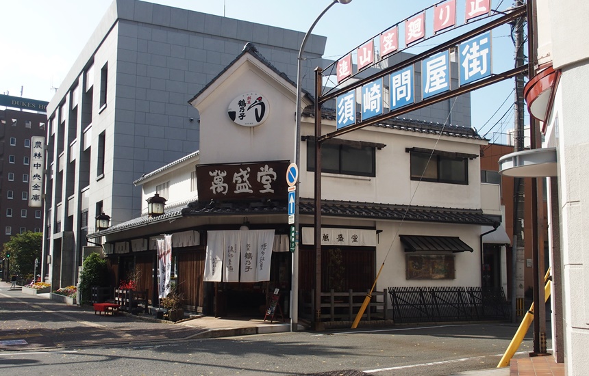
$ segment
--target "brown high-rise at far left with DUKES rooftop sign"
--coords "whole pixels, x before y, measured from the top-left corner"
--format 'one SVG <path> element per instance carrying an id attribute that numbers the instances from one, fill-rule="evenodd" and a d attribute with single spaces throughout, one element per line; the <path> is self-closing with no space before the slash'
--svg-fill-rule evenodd
<path id="1" fill-rule="evenodd" d="M 29 207 L 29 183 L 31 139 L 45 136 L 46 107 L 40 100 L 0 95 L 0 246 L 14 234 L 43 228 L 42 206 Z"/>

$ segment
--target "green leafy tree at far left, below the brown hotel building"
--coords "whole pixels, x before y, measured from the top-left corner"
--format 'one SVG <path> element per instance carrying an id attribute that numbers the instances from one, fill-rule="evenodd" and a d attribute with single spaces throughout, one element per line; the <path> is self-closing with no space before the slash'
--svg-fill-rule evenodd
<path id="1" fill-rule="evenodd" d="M 12 235 L 4 243 L 3 256 L 10 254 L 10 271 L 21 276 L 33 275 L 35 259 L 41 259 L 42 232 L 27 231 Z"/>

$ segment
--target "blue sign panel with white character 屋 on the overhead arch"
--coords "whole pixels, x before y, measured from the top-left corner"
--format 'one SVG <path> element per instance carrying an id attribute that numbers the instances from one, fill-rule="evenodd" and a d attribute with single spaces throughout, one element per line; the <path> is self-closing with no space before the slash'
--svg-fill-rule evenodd
<path id="1" fill-rule="evenodd" d="M 421 62 L 423 98 L 450 90 L 449 52 L 436 53 Z"/>

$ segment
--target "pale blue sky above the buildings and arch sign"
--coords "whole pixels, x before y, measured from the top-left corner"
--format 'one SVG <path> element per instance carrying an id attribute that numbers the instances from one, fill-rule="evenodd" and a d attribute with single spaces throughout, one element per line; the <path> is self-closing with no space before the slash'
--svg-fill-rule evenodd
<path id="1" fill-rule="evenodd" d="M 309 29 L 330 1 L 151 0 L 153 3 L 303 32 Z M 460 12 L 464 12 L 460 10 L 461 5 L 464 9 L 464 1 L 457 0 L 459 20 Z M 338 59 L 381 31 L 437 2 L 353 0 L 347 5 L 336 4 L 321 18 L 314 33 L 327 36 L 324 57 Z M 21 96 L 23 87 L 24 97 L 49 101 L 54 92 L 51 88 L 59 87 L 110 3 L 112 0 L 4 1 L 1 5 L 0 49 L 5 55 L 0 59 L 0 93 Z M 492 0 L 493 9 L 505 10 L 511 5 L 512 1 Z M 492 37 L 492 71 L 499 73 L 512 68 L 514 52 L 509 28 L 494 30 Z M 436 39 L 427 40 L 411 52 L 424 51 L 436 43 Z M 471 125 L 481 135 L 489 132 L 487 137 L 493 139 L 512 129 L 511 115 L 505 116 L 497 126 L 492 125 L 505 112 L 510 113 L 513 82 L 510 79 L 471 94 Z M 505 143 L 505 138 L 494 141 Z"/>

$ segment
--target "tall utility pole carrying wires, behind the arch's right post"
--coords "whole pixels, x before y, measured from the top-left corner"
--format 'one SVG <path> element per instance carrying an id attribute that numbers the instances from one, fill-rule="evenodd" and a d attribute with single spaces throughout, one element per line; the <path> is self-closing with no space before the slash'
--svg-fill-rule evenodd
<path id="1" fill-rule="evenodd" d="M 524 4 L 524 0 L 516 0 L 514 4 L 519 7 Z M 523 46 L 523 23 L 524 18 L 517 18 L 511 23 L 512 38 L 514 40 L 516 66 L 524 64 L 524 46 Z M 524 75 L 515 77 L 515 132 L 514 132 L 514 152 L 524 149 Z M 524 287 L 525 287 L 525 247 L 524 247 L 524 180 L 523 178 L 514 178 L 514 205 L 513 205 L 513 245 L 512 245 L 512 322 L 517 321 L 517 308 L 522 310 L 524 306 Z"/>

